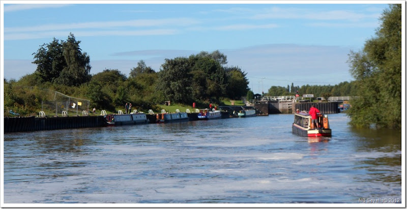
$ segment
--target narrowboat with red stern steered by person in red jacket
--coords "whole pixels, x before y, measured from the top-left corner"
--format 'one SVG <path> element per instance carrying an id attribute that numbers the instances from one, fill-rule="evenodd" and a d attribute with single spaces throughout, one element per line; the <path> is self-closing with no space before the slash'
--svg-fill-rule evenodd
<path id="1" fill-rule="evenodd" d="M 328 115 L 319 114 L 317 120 L 320 127 L 314 127 L 311 123 L 311 115 L 305 111 L 294 114 L 293 133 L 299 136 L 331 136 Z"/>

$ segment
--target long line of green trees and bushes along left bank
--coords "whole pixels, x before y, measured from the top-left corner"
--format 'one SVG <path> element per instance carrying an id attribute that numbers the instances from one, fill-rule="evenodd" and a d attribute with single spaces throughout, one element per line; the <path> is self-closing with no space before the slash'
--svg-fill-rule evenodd
<path id="1" fill-rule="evenodd" d="M 189 57 L 165 59 L 159 72 L 139 61 L 129 77 L 118 69 L 90 74 L 90 57 L 82 52 L 80 41 L 71 33 L 66 41 L 53 38 L 33 53 L 37 69 L 18 81 L 5 79 L 5 113 L 9 109 L 22 115 L 35 114 L 46 96 L 37 86 L 72 97 L 91 100 L 92 108 L 115 112 L 125 103 L 135 108 L 159 110 L 156 104 L 220 104 L 220 98 L 240 99 L 248 91 L 248 79 L 241 68 L 226 66 L 227 57 L 216 50 L 201 51 Z"/>

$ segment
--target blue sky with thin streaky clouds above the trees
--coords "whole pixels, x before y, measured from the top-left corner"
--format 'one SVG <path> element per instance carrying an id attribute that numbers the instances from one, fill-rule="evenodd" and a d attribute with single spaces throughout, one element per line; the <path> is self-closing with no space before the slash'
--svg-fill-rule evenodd
<path id="1" fill-rule="evenodd" d="M 354 80 L 348 54 L 375 36 L 389 8 L 389 1 L 100 2 L 2 1 L 4 78 L 34 73 L 33 53 L 72 33 L 93 75 L 129 76 L 141 59 L 158 72 L 166 58 L 219 50 L 227 66 L 247 73 L 255 94 L 273 85 L 335 85 Z"/>

